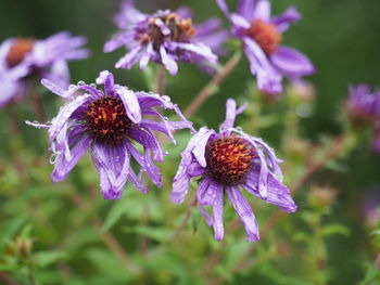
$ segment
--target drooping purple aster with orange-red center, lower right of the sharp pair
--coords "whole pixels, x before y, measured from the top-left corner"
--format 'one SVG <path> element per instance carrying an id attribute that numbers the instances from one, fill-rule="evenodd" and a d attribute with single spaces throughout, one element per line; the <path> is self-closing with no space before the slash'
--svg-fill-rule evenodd
<path id="1" fill-rule="evenodd" d="M 241 190 L 275 204 L 284 211 L 296 210 L 289 189 L 281 182 L 280 160 L 274 150 L 261 139 L 233 128 L 236 116 L 244 108 L 245 106 L 237 108 L 236 102 L 229 99 L 226 120 L 220 126 L 220 131 L 201 128 L 182 152 L 174 178 L 172 199 L 181 203 L 188 193 L 190 180 L 200 177 L 198 204 L 207 224 L 214 226 L 217 241 L 224 236 L 223 207 L 226 192 L 245 225 L 249 241 L 258 241 L 258 226 Z M 204 206 L 212 206 L 212 216 Z"/>

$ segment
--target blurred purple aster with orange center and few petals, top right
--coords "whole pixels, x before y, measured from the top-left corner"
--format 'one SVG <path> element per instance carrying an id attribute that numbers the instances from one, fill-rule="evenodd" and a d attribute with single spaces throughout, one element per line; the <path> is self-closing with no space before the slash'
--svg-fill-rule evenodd
<path id="1" fill-rule="evenodd" d="M 282 33 L 301 15 L 294 8 L 282 15 L 270 15 L 269 0 L 240 0 L 237 13 L 230 13 L 225 0 L 216 0 L 232 25 L 232 34 L 244 46 L 251 73 L 257 76 L 258 89 L 282 92 L 282 76 L 300 80 L 315 72 L 311 61 L 299 51 L 281 46 Z"/>

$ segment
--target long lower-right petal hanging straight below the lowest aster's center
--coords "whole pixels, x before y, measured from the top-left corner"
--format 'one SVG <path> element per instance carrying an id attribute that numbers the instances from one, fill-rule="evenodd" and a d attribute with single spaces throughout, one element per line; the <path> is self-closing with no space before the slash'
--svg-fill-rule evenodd
<path id="1" fill-rule="evenodd" d="M 258 241 L 258 225 L 250 204 L 246 202 L 238 187 L 228 187 L 227 192 L 236 212 L 244 223 L 248 241 Z"/>

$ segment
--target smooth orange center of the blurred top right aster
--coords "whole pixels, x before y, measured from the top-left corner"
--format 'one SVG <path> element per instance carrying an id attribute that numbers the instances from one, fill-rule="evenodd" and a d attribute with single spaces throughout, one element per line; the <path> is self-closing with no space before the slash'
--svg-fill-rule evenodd
<path id="1" fill-rule="evenodd" d="M 277 27 L 263 20 L 253 21 L 246 34 L 257 42 L 267 55 L 273 54 L 282 41 L 282 35 Z"/>

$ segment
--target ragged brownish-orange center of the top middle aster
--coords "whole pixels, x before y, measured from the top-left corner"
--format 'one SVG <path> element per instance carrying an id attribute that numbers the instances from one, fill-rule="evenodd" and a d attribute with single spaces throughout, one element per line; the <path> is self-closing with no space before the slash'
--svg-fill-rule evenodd
<path id="1" fill-rule="evenodd" d="M 169 35 L 164 35 L 161 28 L 155 24 L 156 20 L 161 20 L 165 26 L 170 30 Z M 165 38 L 173 41 L 186 42 L 195 35 L 195 28 L 192 26 L 191 18 L 180 20 L 176 13 L 170 13 L 165 16 L 151 17 L 149 20 L 149 31 L 142 37 L 142 42 L 148 43 L 153 41 L 155 49 L 164 42 Z"/>

